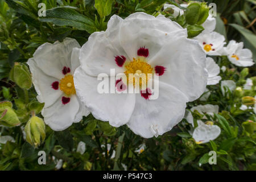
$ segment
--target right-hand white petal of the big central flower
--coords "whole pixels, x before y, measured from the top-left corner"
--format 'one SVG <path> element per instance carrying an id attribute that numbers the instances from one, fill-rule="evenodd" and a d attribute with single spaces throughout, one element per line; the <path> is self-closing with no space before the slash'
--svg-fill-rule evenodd
<path id="1" fill-rule="evenodd" d="M 159 76 L 159 81 L 175 86 L 189 101 L 194 101 L 204 93 L 207 85 L 205 57 L 197 41 L 185 37 L 172 38 L 152 57 L 150 64 L 152 67 L 165 67 L 166 71 Z"/>

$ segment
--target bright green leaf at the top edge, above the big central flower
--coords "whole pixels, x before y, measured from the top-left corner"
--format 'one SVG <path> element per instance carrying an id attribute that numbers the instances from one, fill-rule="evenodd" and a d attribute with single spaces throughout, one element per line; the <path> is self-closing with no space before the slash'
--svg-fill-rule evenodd
<path id="1" fill-rule="evenodd" d="M 113 2 L 114 0 L 95 0 L 94 6 L 101 18 L 104 18 L 111 13 Z"/>

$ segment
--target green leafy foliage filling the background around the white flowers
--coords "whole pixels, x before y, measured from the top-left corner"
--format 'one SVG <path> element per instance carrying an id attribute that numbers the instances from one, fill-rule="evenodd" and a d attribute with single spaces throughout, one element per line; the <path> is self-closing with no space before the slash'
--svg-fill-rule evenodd
<path id="1" fill-rule="evenodd" d="M 0 126 L 0 135 L 10 135 L 15 141 L 0 143 L 0 170 L 55 170 L 62 162 L 61 170 L 255 170 L 255 131 L 249 129 L 246 121 L 256 121 L 253 110 L 240 110 L 243 96 L 255 96 L 255 90 L 237 94 L 221 93 L 220 85 L 208 86 L 211 94 L 207 101 L 188 103 L 188 109 L 195 105 L 213 104 L 220 106 L 220 113 L 208 120 L 216 121 L 221 135 L 214 141 L 196 144 L 189 134 L 189 124 L 183 119 L 170 132 L 158 138 L 144 139 L 135 135 L 126 126 L 114 128 L 107 122 L 98 121 L 92 115 L 80 123 L 73 123 L 65 131 L 55 132 L 46 126 L 46 139 L 34 148 L 23 137 L 23 129 L 32 112 L 40 115 L 42 105 L 36 100 L 36 92 L 30 85 L 19 85 L 11 78 L 14 65 L 23 67 L 41 44 L 66 37 L 84 44 L 94 31 L 106 29 L 113 14 L 122 18 L 137 11 L 158 15 L 163 13 L 163 3 L 175 5 L 186 1 L 165 0 L 0 0 L 0 99 L 10 101 L 20 121 L 17 127 Z M 244 42 L 256 60 L 256 1 L 213 0 L 218 16 L 217 32 L 226 40 Z M 39 3 L 45 3 L 46 15 L 39 17 Z M 97 8 L 97 9 L 96 9 Z M 222 80 L 234 80 L 243 86 L 248 77 L 256 76 L 255 65 L 241 69 L 230 64 L 226 56 L 214 60 L 227 71 L 220 73 Z M 24 64 L 26 67 L 26 64 Z M 26 72 L 26 68 L 23 70 Z M 25 73 L 24 73 L 25 74 Z M 23 75 L 24 75 L 23 74 Z M 27 79 L 27 78 L 24 78 Z M 234 105 L 237 105 L 235 107 Z M 0 106 L 1 107 L 1 106 Z M 36 111 L 36 113 L 35 113 Z M 226 132 L 228 131 L 228 132 Z M 77 152 L 78 143 L 86 144 L 84 154 Z M 142 143 L 145 150 L 135 152 Z M 102 144 L 111 144 L 106 150 Z M 38 151 L 47 154 L 47 165 L 38 164 Z M 115 158 L 110 159 L 115 150 Z M 217 165 L 209 165 L 209 151 L 217 151 Z M 54 157 L 53 157 L 54 156 Z M 58 169 L 59 169 L 58 168 Z"/>

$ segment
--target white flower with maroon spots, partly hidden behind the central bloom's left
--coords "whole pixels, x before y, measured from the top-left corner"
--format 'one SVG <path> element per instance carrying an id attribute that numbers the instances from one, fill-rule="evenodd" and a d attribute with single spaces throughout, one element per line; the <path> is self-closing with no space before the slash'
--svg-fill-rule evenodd
<path id="1" fill-rule="evenodd" d="M 73 73 L 80 65 L 79 51 L 79 43 L 66 38 L 62 43 L 38 47 L 27 62 L 38 101 L 44 102 L 44 122 L 55 131 L 67 129 L 73 122 L 79 122 L 82 115 L 89 114 L 73 84 Z"/>

